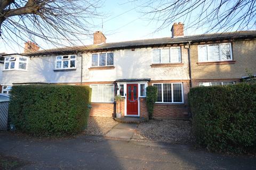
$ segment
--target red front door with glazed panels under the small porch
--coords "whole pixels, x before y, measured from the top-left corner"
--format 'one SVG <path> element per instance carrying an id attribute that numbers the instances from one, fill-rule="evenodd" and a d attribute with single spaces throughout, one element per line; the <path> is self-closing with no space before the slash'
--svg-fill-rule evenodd
<path id="1" fill-rule="evenodd" d="M 138 115 L 138 84 L 127 84 L 127 115 Z"/>

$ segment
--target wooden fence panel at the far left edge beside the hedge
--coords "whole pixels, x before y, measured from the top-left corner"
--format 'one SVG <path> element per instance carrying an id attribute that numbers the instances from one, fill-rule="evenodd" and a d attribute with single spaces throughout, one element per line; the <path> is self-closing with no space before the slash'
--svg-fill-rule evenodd
<path id="1" fill-rule="evenodd" d="M 9 101 L 0 102 L 0 130 L 7 130 Z"/>

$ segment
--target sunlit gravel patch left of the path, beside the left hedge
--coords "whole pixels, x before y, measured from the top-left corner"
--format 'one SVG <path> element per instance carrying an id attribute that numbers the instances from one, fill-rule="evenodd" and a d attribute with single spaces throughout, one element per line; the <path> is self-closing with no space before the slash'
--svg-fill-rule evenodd
<path id="1" fill-rule="evenodd" d="M 88 125 L 84 133 L 87 135 L 104 135 L 116 124 L 118 124 L 118 122 L 114 121 L 113 117 L 89 117 Z"/>

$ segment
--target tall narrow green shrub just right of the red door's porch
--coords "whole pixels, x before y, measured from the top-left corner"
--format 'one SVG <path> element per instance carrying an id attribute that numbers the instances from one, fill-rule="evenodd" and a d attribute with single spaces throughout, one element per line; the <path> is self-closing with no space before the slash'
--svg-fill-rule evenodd
<path id="1" fill-rule="evenodd" d="M 148 86 L 146 89 L 146 93 L 147 93 L 146 102 L 147 102 L 147 109 L 148 109 L 148 117 L 149 119 L 152 119 L 154 105 L 157 99 L 157 87 Z"/>

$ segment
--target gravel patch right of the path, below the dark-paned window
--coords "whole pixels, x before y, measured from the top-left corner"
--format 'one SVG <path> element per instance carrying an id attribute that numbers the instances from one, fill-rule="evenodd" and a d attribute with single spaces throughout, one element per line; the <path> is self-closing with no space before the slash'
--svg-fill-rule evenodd
<path id="1" fill-rule="evenodd" d="M 150 120 L 139 124 L 136 133 L 142 139 L 187 144 L 193 140 L 191 128 L 190 121 Z"/>

